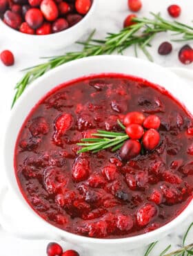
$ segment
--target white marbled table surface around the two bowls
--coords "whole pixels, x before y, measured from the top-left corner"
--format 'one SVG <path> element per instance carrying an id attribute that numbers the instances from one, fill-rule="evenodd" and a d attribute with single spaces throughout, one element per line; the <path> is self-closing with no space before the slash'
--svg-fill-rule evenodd
<path id="1" fill-rule="evenodd" d="M 95 0 L 99 1 L 99 10 L 96 13 L 96 18 L 94 20 L 93 27 L 96 28 L 96 37 L 104 37 L 106 32 L 116 32 L 122 28 L 123 19 L 130 12 L 127 8 L 127 0 Z M 140 16 L 148 16 L 149 12 L 161 12 L 163 17 L 170 19 L 167 15 L 167 6 L 172 3 L 179 3 L 182 8 L 182 14 L 179 18 L 179 21 L 182 21 L 186 24 L 191 24 L 193 20 L 192 10 L 193 10 L 193 1 L 190 0 L 143 0 L 143 8 L 139 12 Z M 193 68 L 193 64 L 188 66 L 184 66 L 178 60 L 178 51 L 179 48 L 183 45 L 180 43 L 173 44 L 174 50 L 171 55 L 163 57 L 157 53 L 157 48 L 159 44 L 170 37 L 168 33 L 162 33 L 158 35 L 153 42 L 152 48 L 150 48 L 150 53 L 154 58 L 154 62 L 160 64 L 165 67 L 176 67 L 176 68 L 187 68 L 189 70 L 189 75 L 183 71 L 178 71 L 177 73 L 184 77 L 189 86 L 193 86 L 193 79 L 191 78 L 191 71 Z M 193 44 L 192 44 L 193 46 Z M 59 54 L 65 51 L 76 51 L 80 48 L 80 46 L 72 45 L 68 49 L 60 51 Z M 6 125 L 6 120 L 10 115 L 10 105 L 12 102 L 12 98 L 14 95 L 14 86 L 21 77 L 22 73 L 19 72 L 22 68 L 33 66 L 34 64 L 40 63 L 39 54 L 30 51 L 25 51 L 25 49 L 21 48 L 19 44 L 14 42 L 14 38 L 12 41 L 6 37 L 6 35 L 1 35 L 0 32 L 0 51 L 4 49 L 10 49 L 15 56 L 15 64 L 12 67 L 5 67 L 0 63 L 0 79 L 1 79 L 1 93 L 0 93 L 0 116 L 1 116 L 1 125 L 0 125 L 0 150 L 2 156 L 2 134 L 3 127 Z M 55 53 L 50 51 L 50 55 Z M 125 55 L 134 55 L 133 48 L 125 51 Z M 145 58 L 143 53 L 139 55 L 141 58 Z M 193 73 L 193 72 L 192 72 Z M 1 166 L 1 158 L 0 158 L 0 189 L 6 185 L 6 179 L 3 174 L 3 167 Z M 12 201 L 12 195 L 8 195 L 9 201 Z M 8 203 L 7 202 L 7 203 Z M 13 207 L 11 208 L 11 214 L 15 218 L 17 217 L 17 209 Z M 16 218 L 17 221 L 17 218 Z M 161 250 L 165 248 L 168 244 L 172 244 L 172 248 L 179 248 L 181 244 L 181 238 L 183 233 L 185 232 L 187 226 L 193 221 L 193 214 L 188 218 L 180 227 L 177 227 L 176 230 L 172 230 L 172 234 L 162 239 L 159 244 L 157 244 L 156 248 L 152 251 L 153 256 L 159 255 Z M 1 225 L 1 223 L 0 223 Z M 188 236 L 187 243 L 193 242 L 193 230 L 190 232 Z M 0 256 L 43 256 L 45 254 L 45 247 L 48 244 L 46 240 L 26 240 L 19 239 L 16 237 L 12 237 L 12 235 L 3 231 L 0 227 Z M 70 245 L 66 245 L 64 242 L 61 243 L 65 248 L 70 248 Z M 77 250 L 79 248 L 77 247 Z M 88 256 L 88 253 L 79 250 L 81 256 Z M 139 250 L 134 250 L 132 252 L 120 252 L 120 256 L 130 256 L 137 255 L 143 256 L 145 248 L 140 248 Z M 95 256 L 93 252 L 92 255 Z M 101 254 L 101 256 L 103 256 Z"/>

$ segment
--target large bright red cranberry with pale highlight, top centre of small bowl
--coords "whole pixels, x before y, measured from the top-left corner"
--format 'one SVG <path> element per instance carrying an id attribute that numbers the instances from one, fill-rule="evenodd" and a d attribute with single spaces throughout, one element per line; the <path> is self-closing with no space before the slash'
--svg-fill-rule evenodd
<path id="1" fill-rule="evenodd" d="M 48 21 L 54 21 L 59 16 L 59 10 L 53 0 L 43 0 L 40 5 L 43 16 Z"/>

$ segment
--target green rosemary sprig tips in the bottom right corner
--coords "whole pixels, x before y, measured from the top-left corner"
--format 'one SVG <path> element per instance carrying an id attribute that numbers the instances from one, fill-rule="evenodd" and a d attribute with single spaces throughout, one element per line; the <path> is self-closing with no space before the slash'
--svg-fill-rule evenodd
<path id="1" fill-rule="evenodd" d="M 192 244 L 188 244 L 187 246 L 185 246 L 185 241 L 187 239 L 187 235 L 190 232 L 191 228 L 193 227 L 193 222 L 190 224 L 190 226 L 187 228 L 185 235 L 183 236 L 183 242 L 182 242 L 182 247 L 179 248 L 179 250 L 174 250 L 171 253 L 167 253 L 167 251 L 170 249 L 171 244 L 169 246 L 167 246 L 162 252 L 161 254 L 159 254 L 159 256 L 188 256 L 188 255 L 193 255 L 193 243 Z M 154 246 L 156 246 L 156 244 L 158 243 L 158 241 L 153 242 L 152 244 L 150 244 L 150 246 L 148 246 L 148 249 L 146 250 L 144 256 L 148 256 L 150 255 L 151 251 L 153 250 Z M 167 254 L 165 254 L 167 253 Z"/>

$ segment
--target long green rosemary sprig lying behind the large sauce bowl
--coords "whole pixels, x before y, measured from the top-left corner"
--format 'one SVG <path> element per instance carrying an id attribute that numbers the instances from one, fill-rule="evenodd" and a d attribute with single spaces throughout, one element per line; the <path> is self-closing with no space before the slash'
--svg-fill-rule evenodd
<path id="1" fill-rule="evenodd" d="M 66 62 L 71 62 L 72 60 L 78 60 L 88 56 L 111 54 L 114 51 L 123 54 L 123 51 L 132 45 L 135 46 L 134 49 L 136 55 L 138 47 L 143 51 L 148 59 L 152 61 L 152 56 L 148 53 L 147 47 L 150 47 L 150 42 L 156 34 L 170 30 L 174 32 L 175 35 L 181 35 L 181 38 L 176 39 L 175 41 L 185 42 L 193 39 L 193 28 L 191 26 L 181 24 L 178 21 L 167 21 L 159 14 L 151 14 L 153 16 L 152 19 L 145 17 L 134 18 L 136 24 L 128 28 L 124 28 L 119 33 L 108 33 L 103 40 L 92 39 L 95 32 L 93 31 L 85 42 L 78 42 L 78 44 L 83 45 L 82 51 L 69 52 L 60 56 L 48 57 L 47 62 L 26 68 L 26 74 L 23 75 L 15 87 L 17 91 L 14 95 L 12 107 L 23 91 L 25 91 L 28 84 L 36 80 L 38 77 L 41 77 L 41 75 L 48 72 L 50 69 L 60 66 Z"/>

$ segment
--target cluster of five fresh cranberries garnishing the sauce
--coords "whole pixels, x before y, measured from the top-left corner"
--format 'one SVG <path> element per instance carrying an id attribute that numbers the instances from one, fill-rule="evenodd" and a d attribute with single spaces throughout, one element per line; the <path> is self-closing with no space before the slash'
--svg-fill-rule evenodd
<path id="1" fill-rule="evenodd" d="M 160 119 L 156 115 L 150 115 L 147 118 L 141 112 L 130 112 L 123 119 L 125 125 L 125 132 L 130 137 L 120 150 L 120 157 L 122 160 L 129 160 L 138 156 L 141 152 L 142 139 L 143 147 L 147 150 L 153 150 L 159 145 L 159 129 Z M 146 129 L 146 131 L 144 130 Z"/>

